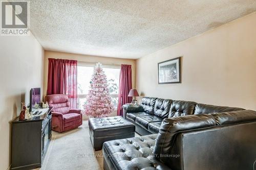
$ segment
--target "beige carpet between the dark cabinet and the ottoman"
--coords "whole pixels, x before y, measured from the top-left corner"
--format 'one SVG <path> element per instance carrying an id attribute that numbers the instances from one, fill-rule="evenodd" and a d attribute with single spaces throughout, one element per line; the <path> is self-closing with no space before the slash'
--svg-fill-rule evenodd
<path id="1" fill-rule="evenodd" d="M 95 152 L 92 148 L 88 120 L 68 132 L 52 131 L 52 140 L 40 169 L 103 169 L 102 151 Z"/>

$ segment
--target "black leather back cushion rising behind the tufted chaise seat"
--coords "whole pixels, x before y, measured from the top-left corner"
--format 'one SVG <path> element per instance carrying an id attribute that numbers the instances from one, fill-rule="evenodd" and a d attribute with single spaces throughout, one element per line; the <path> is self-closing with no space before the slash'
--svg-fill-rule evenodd
<path id="1" fill-rule="evenodd" d="M 169 159 L 172 159 L 168 155 L 177 133 L 212 126 L 216 126 L 216 120 L 214 116 L 208 114 L 165 118 L 161 124 L 153 153 L 156 154 L 158 160 L 168 164 Z M 161 154 L 166 156 L 160 156 Z"/>

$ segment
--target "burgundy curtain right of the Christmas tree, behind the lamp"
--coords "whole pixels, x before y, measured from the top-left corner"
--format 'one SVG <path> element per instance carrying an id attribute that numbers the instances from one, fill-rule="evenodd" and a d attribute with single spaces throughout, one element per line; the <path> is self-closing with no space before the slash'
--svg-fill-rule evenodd
<path id="1" fill-rule="evenodd" d="M 132 89 L 132 65 L 121 65 L 119 76 L 119 94 L 118 94 L 118 106 L 117 115 L 121 116 L 122 105 L 125 103 L 131 103 L 132 97 L 128 97 L 130 90 Z"/>

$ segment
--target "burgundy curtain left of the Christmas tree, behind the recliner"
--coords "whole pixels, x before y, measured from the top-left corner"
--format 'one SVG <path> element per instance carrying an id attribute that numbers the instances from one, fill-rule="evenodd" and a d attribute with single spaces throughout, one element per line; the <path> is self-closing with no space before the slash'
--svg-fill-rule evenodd
<path id="1" fill-rule="evenodd" d="M 77 108 L 77 61 L 49 58 L 47 95 L 67 94 Z"/>

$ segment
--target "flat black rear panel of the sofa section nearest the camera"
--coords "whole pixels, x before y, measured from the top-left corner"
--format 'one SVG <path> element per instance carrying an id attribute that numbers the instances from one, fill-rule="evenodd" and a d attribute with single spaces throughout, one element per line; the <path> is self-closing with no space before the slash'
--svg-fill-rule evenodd
<path id="1" fill-rule="evenodd" d="M 253 169 L 255 129 L 256 121 L 181 132 L 170 152 L 180 157 L 169 160 L 170 169 Z"/>

